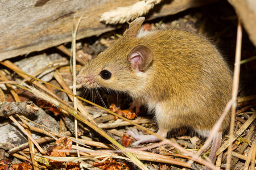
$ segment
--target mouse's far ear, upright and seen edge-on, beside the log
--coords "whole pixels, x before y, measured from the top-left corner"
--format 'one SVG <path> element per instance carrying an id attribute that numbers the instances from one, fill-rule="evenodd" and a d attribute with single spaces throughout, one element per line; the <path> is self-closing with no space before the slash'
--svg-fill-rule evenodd
<path id="1" fill-rule="evenodd" d="M 133 22 L 131 22 L 129 25 L 129 28 L 125 31 L 125 33 L 123 33 L 123 36 L 136 37 L 144 20 L 145 20 L 144 17 L 140 17 L 135 19 Z"/>

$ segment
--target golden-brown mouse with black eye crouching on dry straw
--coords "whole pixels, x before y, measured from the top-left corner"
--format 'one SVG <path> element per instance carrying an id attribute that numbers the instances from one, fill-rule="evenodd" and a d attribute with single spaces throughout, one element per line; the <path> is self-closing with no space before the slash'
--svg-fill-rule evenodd
<path id="1" fill-rule="evenodd" d="M 232 72 L 205 36 L 179 28 L 147 31 L 144 17 L 135 19 L 123 36 L 86 64 L 77 82 L 86 88 L 126 93 L 133 106 L 154 114 L 157 134 L 188 128 L 207 138 L 232 94 Z M 216 160 L 230 113 L 214 137 L 210 160 Z M 159 141 L 154 135 L 127 131 L 137 142 Z"/>

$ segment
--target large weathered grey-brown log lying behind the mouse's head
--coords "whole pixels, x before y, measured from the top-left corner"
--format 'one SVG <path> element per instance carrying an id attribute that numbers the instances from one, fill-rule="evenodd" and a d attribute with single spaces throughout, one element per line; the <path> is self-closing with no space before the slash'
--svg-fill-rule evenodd
<path id="1" fill-rule="evenodd" d="M 100 16 L 138 0 L 16 0 L 0 1 L 0 61 L 70 42 L 73 23 L 81 21 L 77 39 L 115 28 L 100 23 Z M 176 14 L 218 0 L 166 0 L 155 6 L 150 19 Z"/>

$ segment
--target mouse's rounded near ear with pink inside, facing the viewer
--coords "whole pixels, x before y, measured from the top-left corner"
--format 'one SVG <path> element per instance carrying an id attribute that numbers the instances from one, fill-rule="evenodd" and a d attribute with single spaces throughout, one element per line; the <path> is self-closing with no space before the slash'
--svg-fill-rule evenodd
<path id="1" fill-rule="evenodd" d="M 136 71 L 145 71 L 153 60 L 153 52 L 145 45 L 135 46 L 127 60 L 131 63 L 131 67 Z"/>

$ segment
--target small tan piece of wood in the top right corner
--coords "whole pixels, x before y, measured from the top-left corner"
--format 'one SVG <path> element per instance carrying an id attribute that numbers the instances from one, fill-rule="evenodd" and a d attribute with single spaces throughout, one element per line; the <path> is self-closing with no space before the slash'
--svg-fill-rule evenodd
<path id="1" fill-rule="evenodd" d="M 234 7 L 237 15 L 241 17 L 243 27 L 249 35 L 251 42 L 256 46 L 256 1 L 228 0 Z"/>

